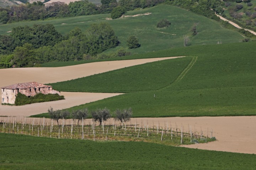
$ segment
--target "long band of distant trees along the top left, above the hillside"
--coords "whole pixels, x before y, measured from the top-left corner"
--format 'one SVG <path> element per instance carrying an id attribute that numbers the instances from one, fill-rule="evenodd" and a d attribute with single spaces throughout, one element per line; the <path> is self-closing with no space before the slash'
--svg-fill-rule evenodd
<path id="1" fill-rule="evenodd" d="M 54 17 L 93 15 L 99 13 L 117 14 L 122 11 L 123 14 L 127 10 L 135 8 L 145 8 L 157 5 L 165 0 L 101 0 L 102 5 L 96 6 L 88 0 L 70 2 L 52 2 L 51 4 L 43 4 L 43 2 L 29 2 L 26 4 L 13 5 L 10 7 L 0 7 L 0 24 L 18 22 L 24 20 L 44 20 Z M 120 16 L 115 15 L 113 18 Z"/>

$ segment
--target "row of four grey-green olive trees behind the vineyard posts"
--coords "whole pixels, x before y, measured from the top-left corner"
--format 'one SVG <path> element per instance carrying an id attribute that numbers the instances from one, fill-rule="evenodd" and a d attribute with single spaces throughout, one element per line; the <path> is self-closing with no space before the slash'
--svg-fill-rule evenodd
<path id="1" fill-rule="evenodd" d="M 89 111 L 87 108 L 76 110 L 73 112 L 69 112 L 67 110 L 53 110 L 52 107 L 48 109 L 48 113 L 50 115 L 51 119 L 54 119 L 57 121 L 57 124 L 59 125 L 59 119 L 78 119 L 78 125 L 79 121 L 82 119 L 86 119 L 89 116 Z M 114 118 L 116 120 L 121 121 L 122 123 L 127 122 L 132 117 L 132 108 L 128 109 L 117 109 L 114 112 Z M 96 109 L 95 111 L 91 111 L 91 117 L 94 119 L 94 121 L 98 121 L 100 125 L 102 124 L 102 121 L 106 121 L 111 118 L 110 110 L 107 108 L 104 109 Z"/>

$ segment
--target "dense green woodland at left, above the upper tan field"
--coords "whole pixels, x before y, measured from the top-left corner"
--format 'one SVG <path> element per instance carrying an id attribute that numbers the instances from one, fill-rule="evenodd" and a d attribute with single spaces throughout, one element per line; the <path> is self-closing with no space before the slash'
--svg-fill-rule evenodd
<path id="1" fill-rule="evenodd" d="M 76 61 L 116 47 L 119 40 L 107 23 L 92 24 L 62 35 L 52 24 L 35 24 L 0 35 L 0 67 L 36 67 L 49 61 Z"/>

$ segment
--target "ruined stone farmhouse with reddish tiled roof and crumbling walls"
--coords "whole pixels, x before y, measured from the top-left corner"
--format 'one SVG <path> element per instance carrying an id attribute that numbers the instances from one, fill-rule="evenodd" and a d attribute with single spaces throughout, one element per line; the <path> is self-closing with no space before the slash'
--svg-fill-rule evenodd
<path id="1" fill-rule="evenodd" d="M 28 97 L 34 96 L 38 93 L 46 94 L 59 94 L 59 91 L 53 90 L 52 86 L 47 86 L 37 82 L 30 83 L 17 83 L 14 85 L 1 87 L 2 103 L 14 104 L 18 92 Z"/>

